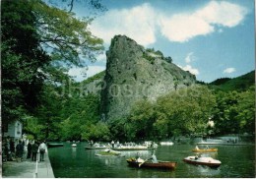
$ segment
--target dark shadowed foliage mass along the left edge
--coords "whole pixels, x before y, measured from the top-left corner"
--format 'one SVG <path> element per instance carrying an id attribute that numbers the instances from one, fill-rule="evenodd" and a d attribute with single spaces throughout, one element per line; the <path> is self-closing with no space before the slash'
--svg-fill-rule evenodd
<path id="1" fill-rule="evenodd" d="M 3 1 L 2 34 L 2 115 L 3 123 L 21 120 L 39 103 L 44 75 L 41 69 L 49 57 L 39 48 L 35 17 L 28 1 Z"/>

